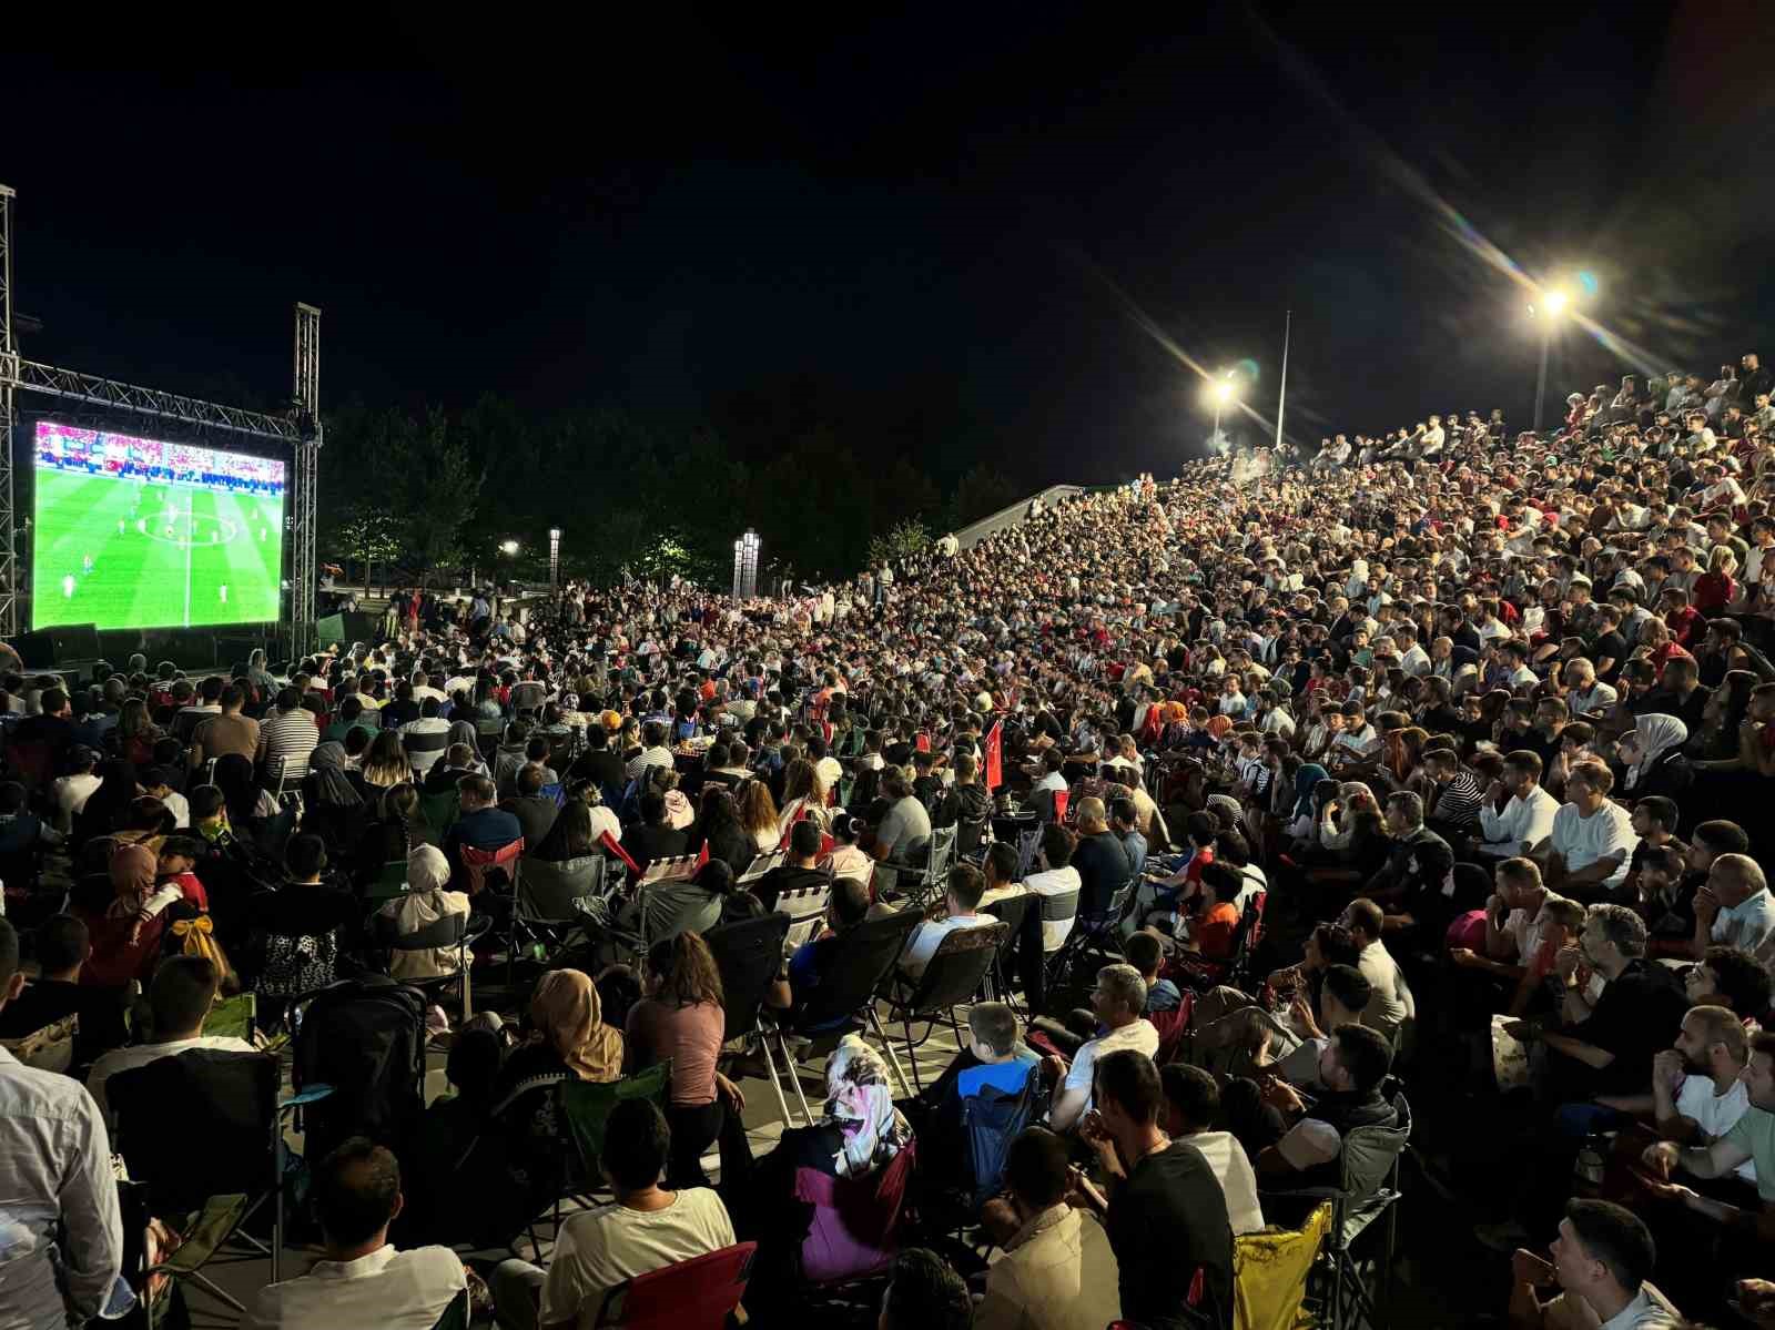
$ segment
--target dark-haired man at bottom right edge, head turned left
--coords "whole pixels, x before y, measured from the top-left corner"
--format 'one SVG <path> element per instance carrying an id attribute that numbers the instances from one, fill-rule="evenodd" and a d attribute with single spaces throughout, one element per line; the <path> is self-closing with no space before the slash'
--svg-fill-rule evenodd
<path id="1" fill-rule="evenodd" d="M 1608 1200 L 1573 1200 L 1548 1250 L 1551 1263 L 1525 1250 L 1511 1261 L 1512 1325 L 1674 1330 L 1679 1323 L 1676 1309 L 1651 1284 L 1658 1250 L 1633 1211 Z M 1555 1286 L 1560 1294 L 1542 1303 L 1537 1289 Z"/>

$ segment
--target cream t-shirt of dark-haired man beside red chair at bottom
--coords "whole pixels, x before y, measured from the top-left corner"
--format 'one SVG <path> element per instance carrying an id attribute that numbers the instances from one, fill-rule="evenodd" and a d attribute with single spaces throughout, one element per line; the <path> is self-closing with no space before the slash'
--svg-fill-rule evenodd
<path id="1" fill-rule="evenodd" d="M 651 1213 L 612 1202 L 572 1215 L 556 1238 L 538 1323 L 593 1325 L 623 1280 L 731 1245 L 728 1207 L 706 1186 L 674 1191 Z"/>

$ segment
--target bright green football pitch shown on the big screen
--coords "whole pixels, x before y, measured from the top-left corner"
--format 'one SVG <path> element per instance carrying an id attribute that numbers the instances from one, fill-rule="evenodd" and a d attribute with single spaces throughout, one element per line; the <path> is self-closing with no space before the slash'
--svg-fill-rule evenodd
<path id="1" fill-rule="evenodd" d="M 32 627 L 279 618 L 284 501 L 37 465 Z"/>

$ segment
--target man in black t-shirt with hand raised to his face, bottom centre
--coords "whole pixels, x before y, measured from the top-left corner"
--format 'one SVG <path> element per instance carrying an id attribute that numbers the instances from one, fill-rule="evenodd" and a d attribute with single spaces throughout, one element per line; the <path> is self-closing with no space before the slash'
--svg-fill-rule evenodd
<path id="1" fill-rule="evenodd" d="M 1108 1053 L 1095 1073 L 1085 1140 L 1097 1152 L 1108 1199 L 1090 1183 L 1079 1200 L 1104 1220 L 1115 1252 L 1122 1316 L 1136 1325 L 1232 1328 L 1232 1222 L 1202 1151 L 1166 1142 L 1164 1092 L 1152 1058 Z"/>

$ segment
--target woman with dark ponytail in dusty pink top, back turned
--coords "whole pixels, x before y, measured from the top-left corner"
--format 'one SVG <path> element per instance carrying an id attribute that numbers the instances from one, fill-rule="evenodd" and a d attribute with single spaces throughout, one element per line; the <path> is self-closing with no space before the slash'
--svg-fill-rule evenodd
<path id="1" fill-rule="evenodd" d="M 641 1001 L 628 1009 L 623 1046 L 630 1071 L 671 1062 L 673 1151 L 666 1167 L 667 1184 L 708 1186 L 703 1151 L 722 1136 L 730 1113 L 746 1110 L 740 1087 L 715 1069 L 726 1032 L 721 973 L 708 943 L 696 932 L 680 932 L 648 948 L 641 971 Z M 744 1140 L 744 1131 L 738 1133 Z M 737 1163 L 737 1161 L 733 1161 Z M 721 1177 L 740 1184 L 740 1170 L 722 1161 Z"/>

